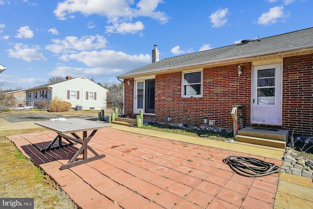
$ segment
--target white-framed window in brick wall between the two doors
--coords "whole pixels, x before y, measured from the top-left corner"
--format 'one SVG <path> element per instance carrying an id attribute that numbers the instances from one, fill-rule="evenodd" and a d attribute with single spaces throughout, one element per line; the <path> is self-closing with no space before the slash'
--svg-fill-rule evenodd
<path id="1" fill-rule="evenodd" d="M 202 96 L 202 70 L 182 72 L 182 97 Z"/>

